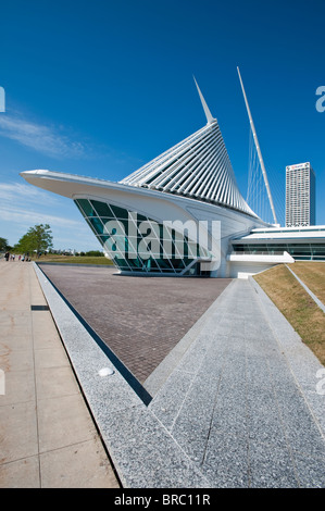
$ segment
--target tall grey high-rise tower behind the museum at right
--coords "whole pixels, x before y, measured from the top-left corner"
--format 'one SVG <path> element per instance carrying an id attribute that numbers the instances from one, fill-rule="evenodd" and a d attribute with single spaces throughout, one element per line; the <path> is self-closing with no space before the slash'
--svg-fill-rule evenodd
<path id="1" fill-rule="evenodd" d="M 315 225 L 315 173 L 311 164 L 286 167 L 286 227 Z"/>

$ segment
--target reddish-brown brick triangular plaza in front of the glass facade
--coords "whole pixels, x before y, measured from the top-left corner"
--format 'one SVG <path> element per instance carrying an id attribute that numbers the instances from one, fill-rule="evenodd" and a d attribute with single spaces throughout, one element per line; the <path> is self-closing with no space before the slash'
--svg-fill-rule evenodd
<path id="1" fill-rule="evenodd" d="M 122 276 L 112 266 L 40 269 L 140 383 L 230 282 Z"/>

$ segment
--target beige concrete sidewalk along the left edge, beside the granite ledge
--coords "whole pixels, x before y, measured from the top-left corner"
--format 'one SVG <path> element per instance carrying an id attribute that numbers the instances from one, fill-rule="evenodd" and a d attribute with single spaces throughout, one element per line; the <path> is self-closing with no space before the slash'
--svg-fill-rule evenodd
<path id="1" fill-rule="evenodd" d="M 0 487 L 117 488 L 33 264 L 0 260 Z"/>

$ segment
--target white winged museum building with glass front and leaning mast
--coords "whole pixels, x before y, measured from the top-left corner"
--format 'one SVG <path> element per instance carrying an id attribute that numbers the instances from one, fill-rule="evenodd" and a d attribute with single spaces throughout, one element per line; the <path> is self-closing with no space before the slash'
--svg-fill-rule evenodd
<path id="1" fill-rule="evenodd" d="M 325 260 L 325 226 L 282 228 L 248 205 L 197 88 L 207 124 L 120 182 L 48 170 L 21 175 L 72 199 L 123 274 L 247 277 L 297 259 Z"/>

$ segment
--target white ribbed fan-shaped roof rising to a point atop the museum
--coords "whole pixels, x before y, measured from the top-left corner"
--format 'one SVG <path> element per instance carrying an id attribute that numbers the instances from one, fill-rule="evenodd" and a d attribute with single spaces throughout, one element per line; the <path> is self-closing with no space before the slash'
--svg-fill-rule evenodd
<path id="1" fill-rule="evenodd" d="M 120 183 L 209 201 L 257 216 L 238 189 L 217 121 L 211 115 L 207 119 L 204 127 Z"/>

